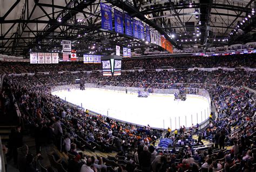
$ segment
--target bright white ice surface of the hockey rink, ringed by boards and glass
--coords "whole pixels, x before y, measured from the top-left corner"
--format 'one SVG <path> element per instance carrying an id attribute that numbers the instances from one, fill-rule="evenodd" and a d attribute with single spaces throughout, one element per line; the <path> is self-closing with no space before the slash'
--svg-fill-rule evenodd
<path id="1" fill-rule="evenodd" d="M 187 95 L 186 101 L 174 101 L 173 95 L 154 94 L 147 98 L 122 91 L 86 88 L 52 92 L 66 101 L 127 123 L 157 128 L 181 125 L 190 127 L 208 118 L 210 105 L 206 98 Z"/>

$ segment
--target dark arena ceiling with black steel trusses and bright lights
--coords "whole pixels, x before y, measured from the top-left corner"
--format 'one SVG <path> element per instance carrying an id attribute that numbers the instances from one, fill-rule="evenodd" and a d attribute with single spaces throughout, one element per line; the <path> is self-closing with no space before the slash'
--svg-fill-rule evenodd
<path id="1" fill-rule="evenodd" d="M 110 54 L 115 45 L 138 53 L 155 45 L 102 30 L 100 5 L 128 12 L 169 39 L 178 49 L 215 47 L 256 40 L 255 0 L 0 0 L 0 52 L 28 55 L 29 51 L 61 51 L 72 40 L 79 53 Z"/>

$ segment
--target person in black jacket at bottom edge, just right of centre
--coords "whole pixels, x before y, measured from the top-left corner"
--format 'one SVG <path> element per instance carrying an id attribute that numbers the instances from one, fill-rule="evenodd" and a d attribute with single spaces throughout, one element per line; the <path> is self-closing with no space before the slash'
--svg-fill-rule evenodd
<path id="1" fill-rule="evenodd" d="M 139 164 L 142 167 L 142 171 L 150 171 L 150 160 L 151 160 L 151 153 L 149 152 L 149 147 L 144 146 L 143 151 L 140 152 L 139 155 Z"/>

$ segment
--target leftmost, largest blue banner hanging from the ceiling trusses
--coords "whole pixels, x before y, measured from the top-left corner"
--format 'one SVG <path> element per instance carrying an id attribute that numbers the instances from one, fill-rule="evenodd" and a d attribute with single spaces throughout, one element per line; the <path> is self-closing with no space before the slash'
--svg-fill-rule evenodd
<path id="1" fill-rule="evenodd" d="M 100 3 L 100 11 L 102 12 L 102 28 L 112 31 L 111 6 Z"/>

